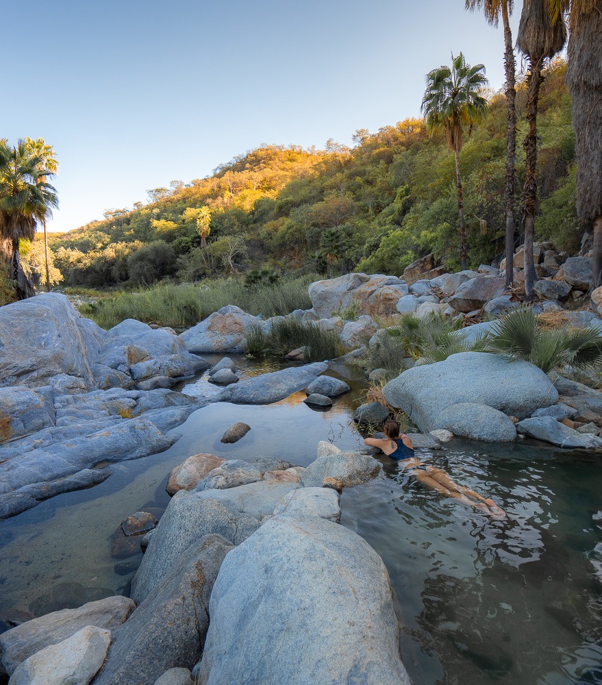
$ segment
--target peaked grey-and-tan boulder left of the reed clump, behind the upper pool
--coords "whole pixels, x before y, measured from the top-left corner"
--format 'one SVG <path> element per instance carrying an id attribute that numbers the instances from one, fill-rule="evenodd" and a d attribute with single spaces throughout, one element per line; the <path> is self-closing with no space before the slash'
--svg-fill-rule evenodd
<path id="1" fill-rule="evenodd" d="M 247 347 L 245 329 L 260 321 L 242 309 L 228 305 L 218 309 L 201 323 L 180 334 L 189 352 L 244 352 Z"/>

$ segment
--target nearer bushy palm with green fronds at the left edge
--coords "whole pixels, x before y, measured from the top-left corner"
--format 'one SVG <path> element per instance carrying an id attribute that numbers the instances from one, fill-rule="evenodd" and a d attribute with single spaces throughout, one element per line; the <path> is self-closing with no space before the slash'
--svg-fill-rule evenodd
<path id="1" fill-rule="evenodd" d="M 10 262 L 10 277 L 16 279 L 21 298 L 34 295 L 34 289 L 21 269 L 19 240 L 33 240 L 36 221 L 58 206 L 56 190 L 46 180 L 51 175 L 25 140 L 16 147 L 0 145 L 0 252 Z"/>

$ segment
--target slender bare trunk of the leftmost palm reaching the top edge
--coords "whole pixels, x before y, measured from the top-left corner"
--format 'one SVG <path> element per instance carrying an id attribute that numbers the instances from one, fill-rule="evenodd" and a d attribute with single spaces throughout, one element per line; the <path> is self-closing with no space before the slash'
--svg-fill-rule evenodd
<path id="1" fill-rule="evenodd" d="M 508 5 L 501 5 L 504 25 L 504 66 L 506 72 L 506 101 L 508 107 L 506 127 L 506 288 L 514 281 L 514 160 L 516 157 L 516 66 L 512 48 L 512 31 L 508 18 Z"/>

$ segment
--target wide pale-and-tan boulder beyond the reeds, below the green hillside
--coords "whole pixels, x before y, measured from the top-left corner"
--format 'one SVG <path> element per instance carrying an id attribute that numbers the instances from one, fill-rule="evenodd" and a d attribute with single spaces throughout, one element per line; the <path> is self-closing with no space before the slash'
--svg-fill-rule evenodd
<path id="1" fill-rule="evenodd" d="M 362 314 L 368 316 L 394 314 L 397 301 L 409 291 L 397 276 L 347 273 L 316 281 L 310 284 L 308 292 L 314 312 L 328 317 L 351 306 L 359 306 Z"/>

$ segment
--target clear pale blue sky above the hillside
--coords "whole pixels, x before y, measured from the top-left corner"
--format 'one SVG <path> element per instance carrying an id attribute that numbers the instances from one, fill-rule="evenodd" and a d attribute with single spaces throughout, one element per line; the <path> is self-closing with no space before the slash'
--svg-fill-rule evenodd
<path id="1" fill-rule="evenodd" d="M 464 0 L 32 0 L 2 14 L 0 138 L 55 147 L 55 231 L 264 142 L 350 145 L 417 115 L 451 52 L 504 80 L 501 29 Z"/>

